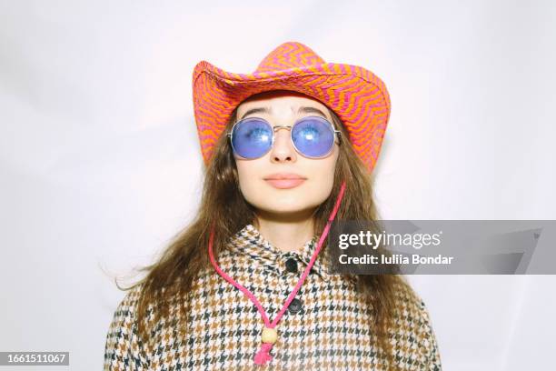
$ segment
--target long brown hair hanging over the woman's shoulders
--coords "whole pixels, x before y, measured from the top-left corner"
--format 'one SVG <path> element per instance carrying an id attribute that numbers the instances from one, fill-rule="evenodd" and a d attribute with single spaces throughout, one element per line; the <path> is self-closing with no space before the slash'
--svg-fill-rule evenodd
<path id="1" fill-rule="evenodd" d="M 378 220 L 373 201 L 373 176 L 353 151 L 340 118 L 332 110 L 329 112 L 333 117 L 333 125 L 342 133 L 342 144 L 331 196 L 313 214 L 315 231 L 323 231 L 343 179 L 349 181 L 346 182 L 342 204 L 335 219 Z M 235 122 L 236 113 L 237 108 L 223 133 Z M 137 331 L 141 338 L 149 341 L 149 335 L 154 335 L 158 320 L 170 317 L 172 321 L 168 321 L 169 325 L 179 327 L 182 334 L 186 334 L 191 305 L 189 293 L 194 279 L 201 270 L 211 267 L 207 252 L 211 226 L 214 224 L 214 230 L 217 231 L 214 234 L 213 252 L 214 256 L 218 256 L 229 238 L 254 220 L 255 210 L 245 201 L 239 189 L 232 147 L 227 136 L 221 135 L 205 168 L 203 196 L 194 220 L 174 236 L 154 264 L 139 268 L 139 272 L 146 273 L 143 279 L 125 288 L 119 286 L 117 279 L 115 280 L 116 286 L 122 290 L 142 286 L 136 312 Z M 326 242 L 322 248 L 326 248 Z M 379 355 L 382 355 L 382 365 L 394 369 L 394 354 L 388 329 L 395 320 L 395 309 L 399 304 L 396 292 L 403 291 L 411 295 L 412 289 L 405 278 L 398 275 L 356 277 L 357 289 L 372 308 L 373 321 L 369 325 L 372 326 L 371 333 L 376 336 L 375 345 Z M 178 313 L 170 316 L 171 307 L 177 307 Z"/>

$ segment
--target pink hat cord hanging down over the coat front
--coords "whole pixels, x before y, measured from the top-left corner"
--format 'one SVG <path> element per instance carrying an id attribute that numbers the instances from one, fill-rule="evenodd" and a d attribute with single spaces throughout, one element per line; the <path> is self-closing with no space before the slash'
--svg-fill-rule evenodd
<path id="1" fill-rule="evenodd" d="M 213 256 L 214 225 L 212 226 L 211 236 L 209 237 L 208 250 L 209 250 L 209 257 L 211 259 L 211 263 L 214 266 L 214 269 L 216 270 L 216 272 L 218 272 L 218 274 L 220 276 L 223 276 L 223 278 L 226 281 L 228 281 L 233 286 L 235 286 L 240 291 L 242 291 L 243 294 L 245 294 L 245 296 L 247 296 L 253 302 L 253 304 L 257 307 L 257 309 L 259 310 L 259 313 L 263 317 L 264 326 L 269 327 L 269 328 L 274 328 L 278 324 L 278 321 L 280 321 L 280 318 L 282 318 L 286 309 L 288 308 L 288 306 L 290 306 L 290 303 L 292 303 L 293 298 L 295 297 L 295 295 L 297 294 L 297 292 L 299 291 L 299 289 L 303 285 L 303 281 L 305 280 L 305 277 L 309 275 L 309 271 L 311 270 L 311 267 L 313 266 L 318 254 L 319 254 L 319 251 L 321 251 L 321 246 L 323 246 L 323 241 L 326 238 L 326 236 L 328 235 L 328 232 L 330 230 L 330 226 L 332 225 L 334 217 L 336 216 L 336 213 L 338 212 L 338 209 L 340 208 L 340 203 L 342 202 L 344 191 L 345 191 L 345 181 L 343 181 L 342 186 L 340 187 L 340 192 L 338 193 L 338 197 L 336 198 L 336 203 L 334 205 L 333 211 L 332 211 L 330 217 L 328 218 L 328 222 L 326 223 L 326 226 L 324 226 L 323 234 L 319 238 L 319 243 L 316 246 L 316 249 L 314 250 L 313 256 L 311 257 L 311 261 L 309 262 L 309 264 L 307 265 L 307 267 L 303 271 L 303 275 L 301 276 L 301 278 L 297 282 L 297 285 L 295 285 L 295 287 L 293 288 L 293 291 L 290 293 L 290 296 L 288 296 L 287 300 L 283 304 L 282 309 L 280 310 L 280 312 L 278 312 L 278 314 L 276 315 L 276 317 L 274 318 L 272 323 L 268 319 L 268 316 L 266 316 L 266 312 L 264 311 L 263 306 L 261 305 L 261 303 L 259 303 L 257 298 L 249 290 L 247 290 L 245 287 L 243 287 L 242 285 L 235 282 L 235 280 L 231 276 L 226 275 L 223 272 L 223 270 L 220 269 L 220 267 L 216 263 L 216 260 L 214 259 L 214 256 Z M 261 345 L 261 348 L 259 349 L 257 354 L 254 356 L 255 365 L 265 365 L 267 362 L 269 362 L 273 359 L 273 356 L 270 355 L 270 350 L 272 349 L 272 347 L 273 347 L 273 343 L 263 343 Z"/>

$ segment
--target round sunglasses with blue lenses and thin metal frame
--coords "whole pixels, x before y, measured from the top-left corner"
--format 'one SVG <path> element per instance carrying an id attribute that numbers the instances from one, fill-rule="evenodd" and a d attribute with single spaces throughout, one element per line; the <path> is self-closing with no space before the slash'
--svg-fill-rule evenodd
<path id="1" fill-rule="evenodd" d="M 290 129 L 295 150 L 305 157 L 321 158 L 330 154 L 335 135 L 341 143 L 342 133 L 321 116 L 305 116 L 293 125 L 270 125 L 261 117 L 247 117 L 233 124 L 226 135 L 231 139 L 233 153 L 245 159 L 266 155 L 274 145 L 274 131 Z"/>

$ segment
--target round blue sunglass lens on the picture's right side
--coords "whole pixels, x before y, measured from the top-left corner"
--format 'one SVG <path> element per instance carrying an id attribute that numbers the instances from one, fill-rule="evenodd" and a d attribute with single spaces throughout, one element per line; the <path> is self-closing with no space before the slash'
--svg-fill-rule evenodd
<path id="1" fill-rule="evenodd" d="M 334 145 L 332 125 L 322 117 L 303 118 L 292 128 L 295 148 L 308 157 L 327 155 Z"/>

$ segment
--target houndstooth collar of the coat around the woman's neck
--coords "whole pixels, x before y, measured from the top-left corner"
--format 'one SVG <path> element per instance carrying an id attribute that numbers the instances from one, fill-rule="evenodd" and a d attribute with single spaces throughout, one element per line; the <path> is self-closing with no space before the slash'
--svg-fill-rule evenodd
<path id="1" fill-rule="evenodd" d="M 229 247 L 233 253 L 250 256 L 273 269 L 280 269 L 280 267 L 283 267 L 283 262 L 288 258 L 294 257 L 298 262 L 302 263 L 299 266 L 299 271 L 303 272 L 313 257 L 318 244 L 318 237 L 313 236 L 312 239 L 305 242 L 298 250 L 284 252 L 267 241 L 252 224 L 248 224 L 232 236 Z M 324 280 L 331 278 L 329 274 L 330 256 L 325 248 L 321 248 L 311 270 Z"/>

